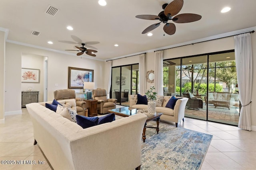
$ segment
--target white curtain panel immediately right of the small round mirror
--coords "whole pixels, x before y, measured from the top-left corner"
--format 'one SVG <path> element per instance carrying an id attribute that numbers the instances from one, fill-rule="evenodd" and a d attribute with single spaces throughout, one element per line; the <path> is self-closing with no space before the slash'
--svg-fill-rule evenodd
<path id="1" fill-rule="evenodd" d="M 163 56 L 164 56 L 164 51 L 163 50 L 155 52 L 154 84 L 155 84 L 157 95 L 160 95 L 160 96 L 164 95 L 164 88 L 163 88 Z"/>

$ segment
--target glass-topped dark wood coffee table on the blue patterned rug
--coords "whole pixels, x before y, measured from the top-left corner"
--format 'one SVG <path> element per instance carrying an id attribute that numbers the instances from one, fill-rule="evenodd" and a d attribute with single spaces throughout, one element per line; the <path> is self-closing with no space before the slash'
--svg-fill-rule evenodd
<path id="1" fill-rule="evenodd" d="M 110 113 L 115 113 L 115 115 L 118 115 L 118 116 L 128 117 L 130 115 L 137 114 L 137 110 L 138 109 L 134 109 L 132 107 L 120 107 L 120 108 L 111 109 L 111 110 L 108 110 L 108 111 Z M 138 113 L 138 114 L 143 114 L 143 113 Z M 152 121 L 152 120 L 156 119 L 156 127 L 148 127 L 148 128 L 155 128 L 156 129 L 156 133 L 158 134 L 158 132 L 159 132 L 159 120 L 160 120 L 160 116 L 161 115 L 162 115 L 162 113 L 156 112 L 156 115 L 148 116 L 148 118 L 146 119 L 144 128 L 143 128 L 143 133 L 142 133 L 143 142 L 145 142 L 145 140 L 146 140 L 146 128 L 148 127 L 146 125 L 147 125 L 148 121 Z"/>

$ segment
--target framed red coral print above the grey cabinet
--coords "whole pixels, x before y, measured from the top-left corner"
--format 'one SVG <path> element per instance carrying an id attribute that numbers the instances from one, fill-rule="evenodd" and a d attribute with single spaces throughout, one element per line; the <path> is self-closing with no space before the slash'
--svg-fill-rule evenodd
<path id="1" fill-rule="evenodd" d="M 40 70 L 33 68 L 21 68 L 22 83 L 40 83 Z"/>

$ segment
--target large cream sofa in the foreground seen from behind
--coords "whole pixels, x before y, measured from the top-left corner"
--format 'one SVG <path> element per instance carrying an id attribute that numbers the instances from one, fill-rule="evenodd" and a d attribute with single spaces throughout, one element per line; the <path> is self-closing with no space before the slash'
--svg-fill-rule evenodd
<path id="1" fill-rule="evenodd" d="M 75 100 L 58 102 L 75 108 Z M 26 105 L 34 127 L 34 145 L 38 143 L 54 170 L 140 168 L 146 115 L 83 129 L 44 106 L 45 102 Z"/>

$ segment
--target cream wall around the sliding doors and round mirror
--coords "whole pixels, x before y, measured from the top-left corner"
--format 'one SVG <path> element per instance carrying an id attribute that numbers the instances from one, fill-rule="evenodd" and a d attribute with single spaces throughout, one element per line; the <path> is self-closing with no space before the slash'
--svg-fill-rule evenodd
<path id="1" fill-rule="evenodd" d="M 253 57 L 253 67 L 256 68 L 256 33 L 251 33 L 252 38 L 252 57 Z M 176 47 L 172 49 L 164 50 L 164 59 L 173 59 L 177 57 L 186 57 L 198 54 L 205 54 L 205 53 L 213 53 L 218 51 L 226 51 L 234 49 L 234 37 L 226 37 L 222 39 L 216 39 L 212 41 L 206 41 L 203 43 L 197 43 L 194 45 L 186 45 L 183 47 Z M 125 59 L 117 59 L 114 60 L 114 66 L 118 65 L 125 65 L 126 64 L 134 64 L 138 63 L 138 55 L 133 57 L 127 57 Z M 146 71 L 154 70 L 154 52 L 146 53 Z M 254 69 L 255 70 L 255 69 Z M 255 71 L 254 71 L 255 72 Z M 155 72 L 155 74 L 157 74 Z M 253 88 L 252 94 L 256 94 L 256 74 L 253 74 Z M 146 82 L 146 89 L 150 88 L 150 86 L 154 86 L 154 83 Z M 251 104 L 251 119 L 252 119 L 252 126 L 253 130 L 256 131 L 256 95 L 252 95 L 252 104 Z"/>

